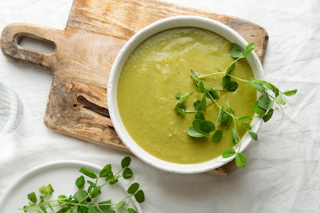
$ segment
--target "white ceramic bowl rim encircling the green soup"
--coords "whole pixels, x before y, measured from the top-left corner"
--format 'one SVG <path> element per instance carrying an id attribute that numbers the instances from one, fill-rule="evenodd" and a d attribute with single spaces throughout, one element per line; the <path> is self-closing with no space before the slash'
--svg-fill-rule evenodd
<path id="1" fill-rule="evenodd" d="M 118 104 L 117 104 L 117 86 L 118 86 L 118 79 L 121 73 L 122 67 L 131 54 L 131 52 L 138 46 L 141 42 L 143 42 L 148 37 L 161 32 L 163 30 L 167 30 L 170 28 L 175 27 L 197 27 L 203 28 L 210 31 L 213 31 L 217 34 L 220 34 L 227 40 L 231 41 L 232 43 L 236 43 L 240 46 L 243 50 L 245 49 L 246 45 L 248 44 L 236 31 L 233 29 L 223 25 L 222 23 L 205 18 L 200 16 L 174 16 L 165 19 L 158 20 L 156 22 L 151 23 L 149 26 L 141 29 L 138 33 L 132 36 L 131 39 L 123 46 L 122 50 L 118 54 L 115 63 L 113 64 L 110 72 L 110 77 L 108 81 L 108 94 L 107 94 L 107 102 L 109 108 L 109 114 L 112 121 L 113 126 L 115 127 L 120 139 L 126 145 L 126 147 L 137 157 L 141 160 L 147 162 L 148 164 L 152 165 L 155 168 L 174 172 L 174 173 L 201 173 L 216 169 L 221 167 L 223 164 L 230 162 L 234 159 L 231 158 L 223 158 L 219 156 L 218 158 L 212 159 L 210 161 L 202 162 L 202 163 L 195 163 L 195 164 L 179 164 L 179 163 L 172 163 L 167 162 L 161 159 L 158 159 L 142 148 L 140 148 L 134 140 L 130 137 L 128 132 L 126 131 L 121 117 L 118 111 Z M 257 55 L 252 52 L 246 57 L 247 61 L 249 62 L 250 66 L 253 69 L 255 78 L 264 79 L 263 68 L 261 62 Z M 252 131 L 257 132 L 262 124 L 262 119 L 254 119 L 252 122 Z M 241 140 L 241 148 L 240 151 L 242 152 L 244 149 L 252 141 L 252 138 L 248 133 L 246 133 L 242 140 Z M 235 149 L 237 150 L 236 145 Z"/>

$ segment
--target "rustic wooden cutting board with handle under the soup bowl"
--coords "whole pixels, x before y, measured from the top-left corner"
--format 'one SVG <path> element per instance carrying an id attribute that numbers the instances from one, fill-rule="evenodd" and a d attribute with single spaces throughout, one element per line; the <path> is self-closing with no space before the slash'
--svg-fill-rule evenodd
<path id="1" fill-rule="evenodd" d="M 126 41 L 150 23 L 176 15 L 199 15 L 236 30 L 256 42 L 262 61 L 268 34 L 259 25 L 237 17 L 150 0 L 74 0 L 64 30 L 12 23 L 1 35 L 4 55 L 20 63 L 50 69 L 53 81 L 44 124 L 51 130 L 128 152 L 112 126 L 107 82 L 113 61 Z M 54 44 L 53 54 L 22 48 L 21 38 Z M 227 176 L 232 161 L 208 173 Z"/>

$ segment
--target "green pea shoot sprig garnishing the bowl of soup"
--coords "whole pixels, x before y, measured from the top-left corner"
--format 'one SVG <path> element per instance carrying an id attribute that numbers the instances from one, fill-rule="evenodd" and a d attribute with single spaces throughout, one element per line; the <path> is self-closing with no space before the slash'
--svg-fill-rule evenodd
<path id="1" fill-rule="evenodd" d="M 220 130 L 221 126 L 223 128 L 228 129 L 230 125 L 233 123 L 232 133 L 231 133 L 231 141 L 232 147 L 227 148 L 222 156 L 224 158 L 229 158 L 235 156 L 236 165 L 240 168 L 245 167 L 247 157 L 245 154 L 240 153 L 241 148 L 241 136 L 237 131 L 237 122 L 240 122 L 241 125 L 245 128 L 245 130 L 250 134 L 250 136 L 254 140 L 258 140 L 258 134 L 256 132 L 251 131 L 252 126 L 248 124 L 249 121 L 252 121 L 255 116 L 245 115 L 242 117 L 237 117 L 234 115 L 234 110 L 230 106 L 228 100 L 226 100 L 226 108 L 218 104 L 217 100 L 220 98 L 218 91 L 224 90 L 226 92 L 234 92 L 237 90 L 239 84 L 234 81 L 242 81 L 249 84 L 251 87 L 256 89 L 260 97 L 255 102 L 253 106 L 253 111 L 257 114 L 256 116 L 262 117 L 264 122 L 267 122 L 271 119 L 273 112 L 277 109 L 282 110 L 282 118 L 278 121 L 284 120 L 284 111 L 282 105 L 288 103 L 286 101 L 286 97 L 294 96 L 297 92 L 297 89 L 293 90 L 285 90 L 281 91 L 279 87 L 276 85 L 264 80 L 264 79 L 241 79 L 234 75 L 232 75 L 232 70 L 236 66 L 237 61 L 245 58 L 256 48 L 255 43 L 249 43 L 246 46 L 245 51 L 243 52 L 239 46 L 235 43 L 232 44 L 232 48 L 230 50 L 230 56 L 235 60 L 226 68 L 225 72 L 217 72 L 211 73 L 205 76 L 198 76 L 194 70 L 191 70 L 191 79 L 194 81 L 196 86 L 196 91 L 183 94 L 179 92 L 176 95 L 176 99 L 178 100 L 176 105 L 174 106 L 174 110 L 177 111 L 180 115 L 185 115 L 186 113 L 195 113 L 195 119 L 192 122 L 192 127 L 190 127 L 187 131 L 188 135 L 191 137 L 211 137 L 213 143 L 219 143 L 221 140 L 223 133 Z M 209 78 L 216 75 L 223 75 L 221 87 L 210 87 L 205 86 L 202 82 L 202 79 Z M 184 105 L 186 99 L 189 96 L 192 96 L 195 92 L 202 93 L 202 98 L 200 100 L 196 100 L 193 104 L 194 110 L 189 110 Z M 205 120 L 204 115 L 201 111 L 206 111 L 207 109 L 207 99 L 212 100 L 212 102 L 218 107 L 218 116 L 215 124 L 212 121 Z M 276 106 L 275 106 L 276 105 Z M 290 105 L 290 104 L 289 104 Z M 235 150 L 234 145 L 239 144 L 239 148 Z"/>

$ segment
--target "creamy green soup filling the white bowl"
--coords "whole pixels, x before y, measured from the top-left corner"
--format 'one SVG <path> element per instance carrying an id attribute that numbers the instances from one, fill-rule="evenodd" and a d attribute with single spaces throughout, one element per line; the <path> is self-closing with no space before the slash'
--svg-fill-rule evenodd
<path id="1" fill-rule="evenodd" d="M 123 124 L 134 141 L 151 155 L 174 163 L 208 161 L 228 147 L 232 147 L 230 128 L 219 127 L 223 137 L 214 144 L 211 138 L 193 138 L 187 134 L 195 118 L 194 113 L 179 115 L 173 108 L 179 92 L 196 90 L 190 78 L 191 69 L 200 76 L 224 72 L 234 61 L 229 52 L 231 42 L 208 30 L 175 28 L 146 39 L 129 56 L 123 66 L 117 88 L 118 107 Z M 253 78 L 245 59 L 237 62 L 232 74 L 242 79 Z M 203 80 L 204 85 L 221 87 L 222 75 Z M 234 79 L 232 79 L 234 80 Z M 226 99 L 241 117 L 253 115 L 257 92 L 246 83 L 235 80 L 235 92 L 219 91 L 217 102 L 227 108 Z M 188 97 L 186 106 L 193 109 L 202 94 Z M 203 112 L 207 120 L 217 120 L 219 109 L 212 101 Z M 237 125 L 240 136 L 245 129 Z"/>

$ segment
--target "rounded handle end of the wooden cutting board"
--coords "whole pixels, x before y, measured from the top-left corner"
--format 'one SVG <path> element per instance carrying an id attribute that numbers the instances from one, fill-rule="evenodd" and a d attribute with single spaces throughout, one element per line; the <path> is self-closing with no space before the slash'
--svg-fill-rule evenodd
<path id="1" fill-rule="evenodd" d="M 27 23 L 12 23 L 5 27 L 1 34 L 1 50 L 4 55 L 18 60 L 20 63 L 33 65 L 45 69 L 53 69 L 56 62 L 56 52 L 62 31 L 32 25 Z M 55 46 L 54 53 L 45 53 L 21 46 L 20 40 L 24 37 L 48 42 Z"/>

